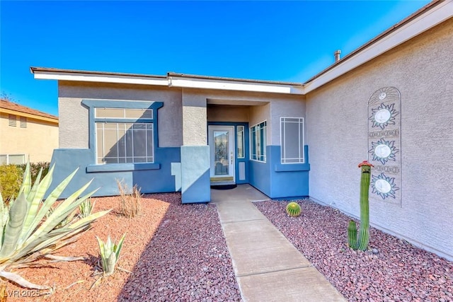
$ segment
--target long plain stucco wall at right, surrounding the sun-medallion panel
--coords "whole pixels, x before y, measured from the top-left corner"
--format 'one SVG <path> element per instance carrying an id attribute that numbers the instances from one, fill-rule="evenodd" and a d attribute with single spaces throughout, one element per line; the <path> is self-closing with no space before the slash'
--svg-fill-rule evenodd
<path id="1" fill-rule="evenodd" d="M 310 195 L 359 216 L 367 102 L 401 92 L 401 207 L 370 201 L 374 226 L 453 258 L 453 20 L 306 95 Z"/>

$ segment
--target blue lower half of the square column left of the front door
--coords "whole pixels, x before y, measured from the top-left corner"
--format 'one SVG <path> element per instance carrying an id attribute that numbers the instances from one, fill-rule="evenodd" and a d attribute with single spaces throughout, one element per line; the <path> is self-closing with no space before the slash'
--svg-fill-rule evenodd
<path id="1" fill-rule="evenodd" d="M 180 149 L 183 204 L 210 202 L 210 147 L 181 146 Z"/>

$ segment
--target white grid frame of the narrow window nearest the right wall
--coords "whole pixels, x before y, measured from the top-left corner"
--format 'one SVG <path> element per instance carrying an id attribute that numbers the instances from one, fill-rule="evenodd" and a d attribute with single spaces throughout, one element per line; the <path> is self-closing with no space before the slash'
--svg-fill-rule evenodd
<path id="1" fill-rule="evenodd" d="M 297 120 L 296 121 L 288 121 L 288 120 Z M 287 150 L 287 146 L 285 144 L 285 142 L 287 141 L 287 137 L 286 137 L 286 124 L 287 123 L 297 123 L 299 125 L 298 129 L 299 129 L 299 135 L 297 138 L 290 138 L 290 139 L 297 139 L 298 140 L 298 144 L 297 146 L 299 146 L 299 157 L 298 158 L 287 158 L 286 157 L 286 150 Z M 301 127 L 300 125 L 302 124 L 302 130 L 301 130 Z M 305 124 L 304 124 L 304 117 L 280 117 L 280 150 L 282 151 L 281 152 L 281 155 L 280 155 L 280 163 L 282 164 L 294 164 L 294 163 L 305 163 L 305 135 L 304 135 L 304 132 L 305 132 Z M 301 139 L 302 139 L 302 145 L 301 145 Z M 291 161 L 291 162 L 287 162 L 287 161 Z"/>

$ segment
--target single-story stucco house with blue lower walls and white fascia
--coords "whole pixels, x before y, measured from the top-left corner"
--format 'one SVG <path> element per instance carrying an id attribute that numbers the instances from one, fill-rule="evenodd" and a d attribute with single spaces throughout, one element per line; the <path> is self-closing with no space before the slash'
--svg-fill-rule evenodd
<path id="1" fill-rule="evenodd" d="M 368 158 L 372 225 L 453 260 L 452 15 L 434 1 L 303 84 L 32 67 L 58 80 L 55 180 L 184 203 L 249 183 L 359 216 Z"/>

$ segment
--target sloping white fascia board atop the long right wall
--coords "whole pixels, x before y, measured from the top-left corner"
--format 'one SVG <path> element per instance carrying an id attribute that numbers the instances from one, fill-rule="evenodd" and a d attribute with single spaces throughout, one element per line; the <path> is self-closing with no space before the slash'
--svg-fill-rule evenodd
<path id="1" fill-rule="evenodd" d="M 442 1 L 439 5 L 432 8 L 430 11 L 423 13 L 423 15 L 415 18 L 401 28 L 396 28 L 393 32 L 382 37 L 380 40 L 369 45 L 361 52 L 355 54 L 344 62 L 340 62 L 325 74 L 321 74 L 316 79 L 304 83 L 304 93 L 314 91 L 316 88 L 333 81 L 334 79 L 342 76 L 343 74 L 357 68 L 358 66 L 369 62 L 370 60 L 378 57 L 391 50 L 392 48 L 401 45 L 403 42 L 411 40 L 413 37 L 429 30 L 437 24 L 447 21 L 453 16 L 453 1 Z"/>

